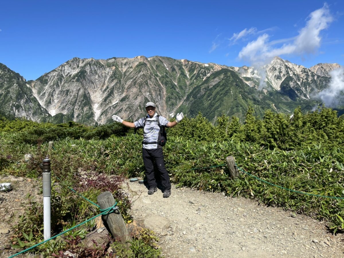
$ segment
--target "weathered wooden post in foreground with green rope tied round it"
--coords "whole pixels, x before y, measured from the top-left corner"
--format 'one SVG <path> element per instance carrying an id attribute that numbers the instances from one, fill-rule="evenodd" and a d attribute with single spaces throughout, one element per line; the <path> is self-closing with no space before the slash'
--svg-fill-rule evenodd
<path id="1" fill-rule="evenodd" d="M 114 196 L 112 196 L 109 191 L 99 194 L 97 201 L 101 209 L 107 209 L 115 204 Z M 130 241 L 131 238 L 119 210 L 116 209 L 107 215 L 102 215 L 102 218 L 109 226 L 112 236 L 114 238 L 119 238 L 122 244 L 126 244 L 127 247 L 129 247 L 129 243 L 127 243 L 127 241 Z"/>

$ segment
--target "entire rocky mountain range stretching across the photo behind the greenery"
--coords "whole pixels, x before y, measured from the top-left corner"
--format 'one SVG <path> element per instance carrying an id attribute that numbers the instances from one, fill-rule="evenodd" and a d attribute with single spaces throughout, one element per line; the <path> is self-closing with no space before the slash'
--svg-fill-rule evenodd
<path id="1" fill-rule="evenodd" d="M 290 112 L 325 88 L 337 64 L 310 69 L 276 57 L 260 69 L 203 64 L 153 56 L 146 58 L 73 58 L 28 83 L 0 66 L 0 105 L 15 116 L 33 120 L 88 125 L 145 115 L 144 103 L 153 101 L 158 113 L 176 112 L 209 120 L 222 114 L 243 117 L 248 105 L 258 114 L 269 108 Z M 308 103 L 308 102 L 307 102 Z"/>

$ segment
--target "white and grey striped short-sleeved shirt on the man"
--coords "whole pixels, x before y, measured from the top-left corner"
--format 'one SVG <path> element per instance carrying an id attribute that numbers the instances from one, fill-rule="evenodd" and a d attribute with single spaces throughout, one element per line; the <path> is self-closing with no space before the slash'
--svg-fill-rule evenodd
<path id="1" fill-rule="evenodd" d="M 144 126 L 143 132 L 143 141 L 146 142 L 157 142 L 159 137 L 159 124 L 157 119 L 157 113 L 154 114 L 152 118 L 147 115 L 146 125 Z M 142 117 L 140 120 L 135 121 L 135 127 L 143 127 L 143 123 L 146 117 Z M 160 125 L 166 126 L 170 121 L 167 120 L 165 117 L 159 116 Z M 160 146 L 158 144 L 143 144 L 142 148 L 151 150 L 151 149 L 158 149 Z"/>

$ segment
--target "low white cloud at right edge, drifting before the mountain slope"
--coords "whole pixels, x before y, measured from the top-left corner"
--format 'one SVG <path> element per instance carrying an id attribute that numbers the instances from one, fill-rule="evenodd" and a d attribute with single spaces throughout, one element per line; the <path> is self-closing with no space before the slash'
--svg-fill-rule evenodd
<path id="1" fill-rule="evenodd" d="M 318 97 L 327 107 L 342 105 L 341 99 L 344 94 L 344 67 L 334 69 L 329 73 L 331 81 L 329 87 L 318 94 Z"/>

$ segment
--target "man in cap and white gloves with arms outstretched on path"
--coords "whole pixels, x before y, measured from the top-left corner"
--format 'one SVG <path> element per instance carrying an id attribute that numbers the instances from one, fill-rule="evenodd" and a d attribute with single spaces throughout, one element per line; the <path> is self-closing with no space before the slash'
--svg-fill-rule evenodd
<path id="1" fill-rule="evenodd" d="M 128 122 L 121 119 L 119 116 L 112 115 L 112 119 L 120 122 L 130 128 L 143 128 L 142 141 L 142 157 L 144 167 L 146 168 L 146 176 L 148 183 L 148 194 L 153 194 L 158 190 L 157 182 L 154 177 L 154 163 L 157 166 L 160 176 L 161 184 L 164 189 L 163 197 L 171 195 L 171 183 L 169 173 L 166 171 L 164 156 L 162 153 L 162 146 L 166 143 L 164 134 L 164 127 L 174 127 L 179 123 L 184 115 L 179 113 L 175 121 L 170 122 L 165 117 L 159 116 L 155 112 L 155 104 L 148 102 L 146 104 L 147 116 L 135 122 Z M 154 162 L 154 163 L 153 163 Z"/>

